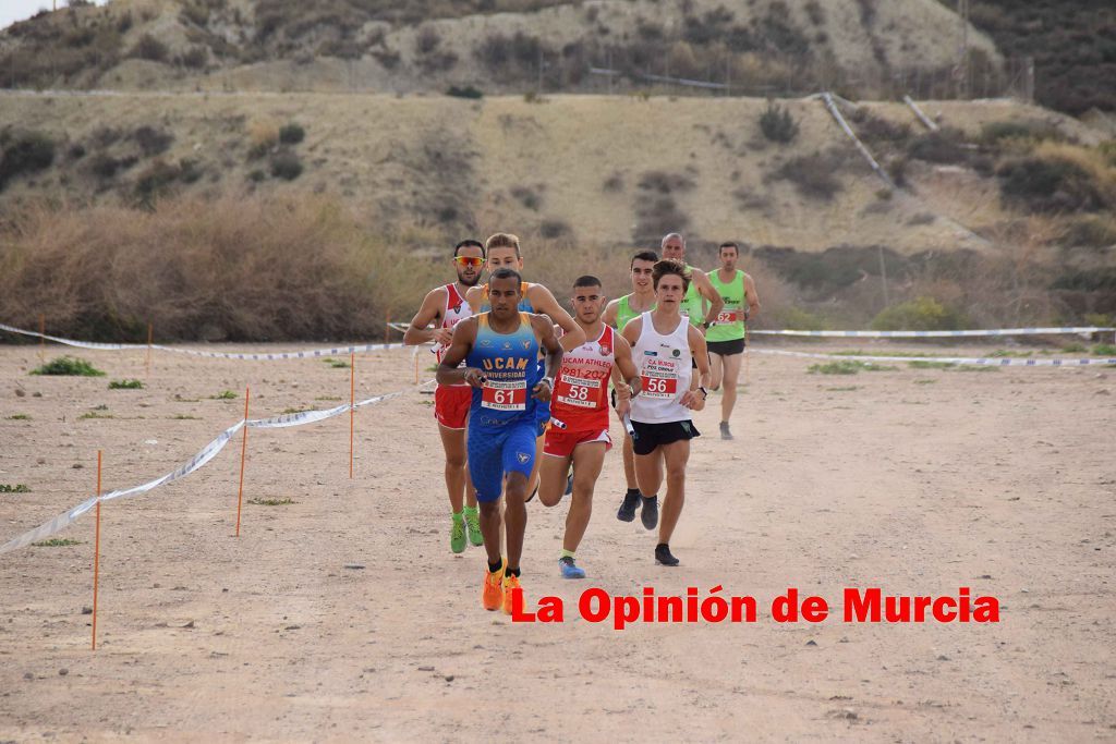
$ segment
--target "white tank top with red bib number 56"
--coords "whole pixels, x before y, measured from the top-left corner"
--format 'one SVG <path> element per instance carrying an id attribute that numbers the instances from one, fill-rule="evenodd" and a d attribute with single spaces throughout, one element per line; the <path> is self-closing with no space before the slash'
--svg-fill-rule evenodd
<path id="1" fill-rule="evenodd" d="M 632 347 L 632 356 L 639 371 L 639 395 L 632 398 L 632 421 L 643 424 L 664 424 L 690 421 L 690 408 L 679 404 L 686 390 L 693 370 L 690 366 L 690 323 L 680 318 L 677 327 L 667 335 L 655 330 L 651 312 L 639 316 L 643 329 Z"/>

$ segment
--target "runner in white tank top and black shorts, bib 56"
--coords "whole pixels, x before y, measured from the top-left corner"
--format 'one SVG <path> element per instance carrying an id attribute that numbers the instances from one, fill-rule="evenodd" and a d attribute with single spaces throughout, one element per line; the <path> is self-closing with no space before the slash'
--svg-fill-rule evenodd
<path id="1" fill-rule="evenodd" d="M 639 368 L 639 395 L 632 399 L 632 438 L 639 491 L 650 494 L 656 509 L 666 466 L 655 561 L 677 566 L 670 542 L 685 501 L 690 439 L 700 436 L 691 410 L 704 408 L 709 395 L 709 352 L 701 331 L 687 325 L 679 310 L 690 289 L 685 265 L 664 259 L 655 264 L 652 278 L 655 309 L 631 321 L 623 332 Z M 699 378 L 693 375 L 690 357 L 698 365 Z"/>

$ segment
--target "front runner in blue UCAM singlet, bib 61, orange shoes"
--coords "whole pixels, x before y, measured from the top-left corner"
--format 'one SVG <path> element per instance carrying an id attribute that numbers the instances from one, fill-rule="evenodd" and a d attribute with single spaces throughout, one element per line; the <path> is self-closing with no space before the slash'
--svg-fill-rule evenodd
<path id="1" fill-rule="evenodd" d="M 543 316 L 519 310 L 522 278 L 499 269 L 489 280 L 492 309 L 453 329 L 437 367 L 440 385 L 473 387 L 469 410 L 469 474 L 481 508 L 488 572 L 481 592 L 484 609 L 511 613 L 519 586 L 519 560 L 527 529 L 528 479 L 535 466 L 536 407 L 549 402 L 562 347 Z M 538 365 L 546 355 L 546 374 Z M 465 367 L 458 365 L 464 360 Z M 500 551 L 500 492 L 506 489 L 507 562 Z"/>

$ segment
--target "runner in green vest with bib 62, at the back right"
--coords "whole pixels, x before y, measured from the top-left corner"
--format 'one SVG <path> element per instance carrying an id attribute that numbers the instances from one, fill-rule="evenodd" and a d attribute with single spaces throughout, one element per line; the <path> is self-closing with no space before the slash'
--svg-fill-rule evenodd
<path id="1" fill-rule="evenodd" d="M 718 313 L 716 323 L 706 331 L 705 345 L 709 347 L 709 359 L 713 368 L 710 389 L 718 389 L 724 380 L 724 393 L 721 395 L 721 438 L 731 439 L 729 417 L 737 405 L 737 380 L 740 379 L 740 360 L 747 340 L 744 322 L 760 311 L 760 298 L 756 293 L 752 278 L 737 269 L 740 247 L 731 241 L 721 243 L 720 257 L 721 268 L 710 273 L 709 280 L 724 300 L 724 308 Z"/>

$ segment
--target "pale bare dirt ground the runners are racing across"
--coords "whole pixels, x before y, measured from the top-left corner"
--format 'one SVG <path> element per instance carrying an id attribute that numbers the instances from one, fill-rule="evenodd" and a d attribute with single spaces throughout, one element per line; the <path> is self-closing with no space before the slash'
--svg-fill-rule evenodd
<path id="1" fill-rule="evenodd" d="M 348 395 L 348 370 L 320 360 L 160 354 L 145 389 L 108 390 L 145 377 L 142 354 L 79 356 L 108 377 L 32 377 L 38 347 L 0 347 L 0 483 L 31 490 L 0 494 L 0 542 L 90 495 L 98 448 L 106 490 L 173 470 L 240 418 L 247 384 L 252 417 Z M 352 481 L 347 416 L 249 432 L 239 539 L 239 436 L 107 503 L 96 653 L 92 513 L 56 535 L 78 544 L 0 555 L 0 741 L 1116 740 L 1116 369 L 838 377 L 753 355 L 738 438 L 715 436 L 718 396 L 695 417 L 682 566 L 655 566 L 654 537 L 615 519 L 614 451 L 578 553 L 589 579 L 558 577 L 568 502 L 529 505 L 527 597 L 561 597 L 566 619 L 527 625 L 481 609 L 481 549 L 449 550 L 411 358 L 357 359 L 358 398 L 408 392 L 358 412 Z M 759 620 L 617 631 L 577 612 L 589 587 L 718 584 L 756 597 Z M 775 622 L 789 587 L 834 617 Z M 970 587 L 1001 621 L 845 624 L 846 587 Z"/>

